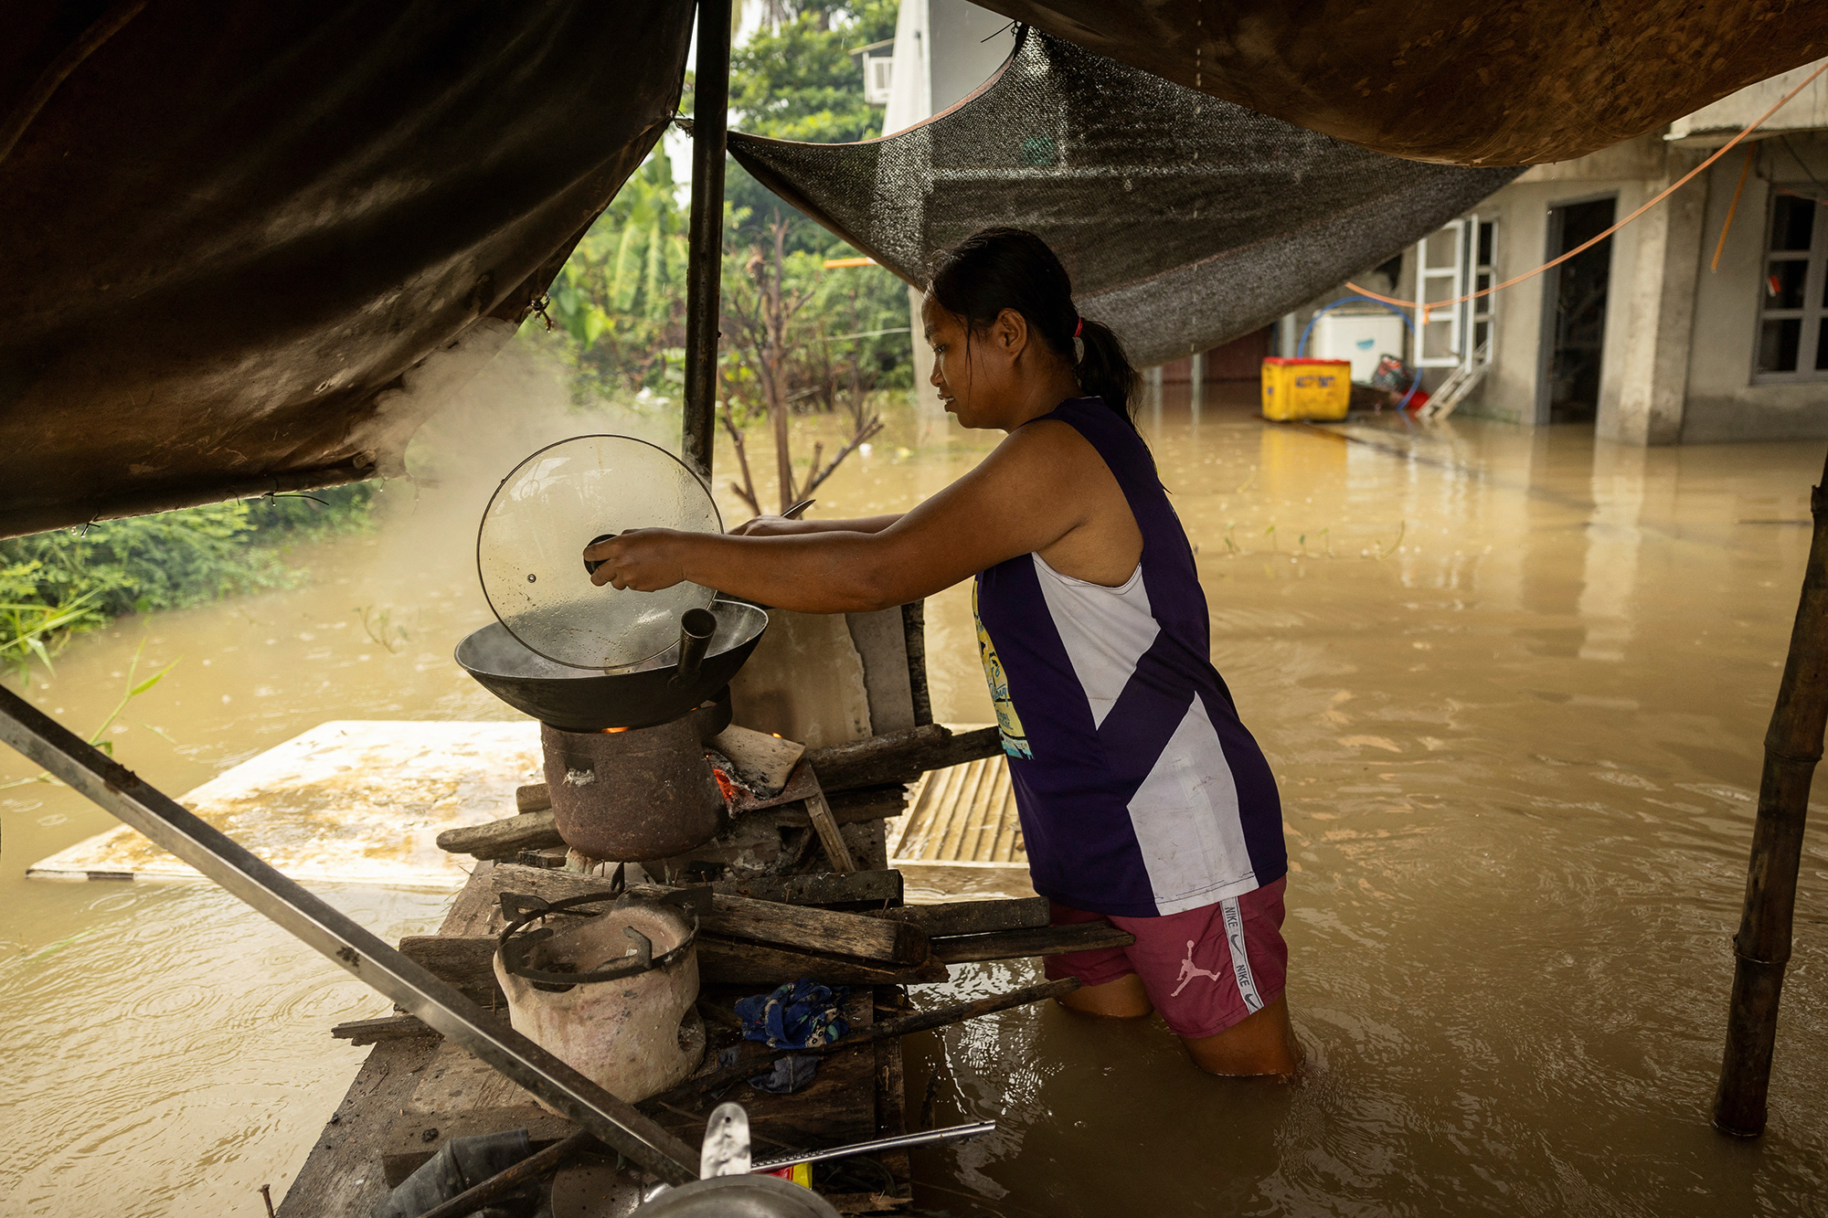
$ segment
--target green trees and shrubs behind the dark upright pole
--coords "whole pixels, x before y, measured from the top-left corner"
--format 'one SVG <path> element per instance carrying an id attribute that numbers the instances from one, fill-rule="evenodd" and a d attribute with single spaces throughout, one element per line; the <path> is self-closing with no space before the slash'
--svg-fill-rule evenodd
<path id="1" fill-rule="evenodd" d="M 779 22 L 731 53 L 731 123 L 784 139 L 865 139 L 881 112 L 863 101 L 850 49 L 894 35 L 896 0 L 777 0 Z M 691 101 L 682 106 L 691 112 Z M 554 335 L 576 369 L 574 395 L 676 399 L 684 382 L 689 201 L 656 148 L 578 243 L 552 283 Z M 724 249 L 724 391 L 735 417 L 755 417 L 766 395 L 755 375 L 742 318 L 759 316 L 759 282 L 773 271 L 773 223 L 786 221 L 782 293 L 804 298 L 784 333 L 784 397 L 797 410 L 834 410 L 846 395 L 910 384 L 907 291 L 881 267 L 824 269 L 857 251 L 834 240 L 760 183 L 728 163 Z M 863 335 L 863 337 L 852 337 Z M 556 338 L 558 342 L 552 342 Z"/>

